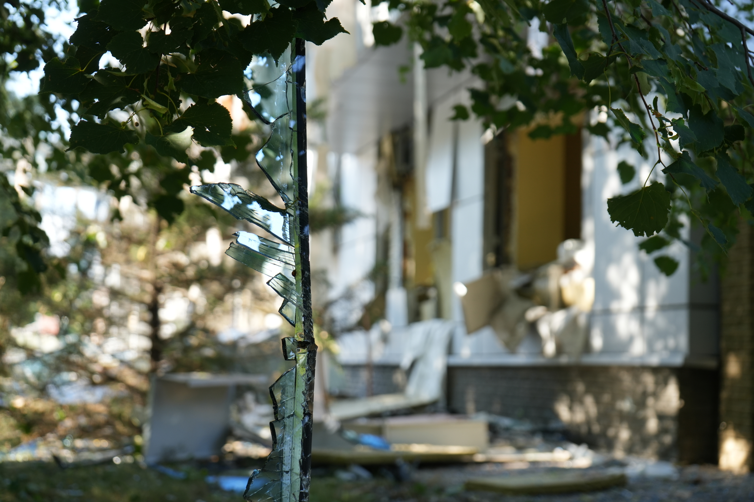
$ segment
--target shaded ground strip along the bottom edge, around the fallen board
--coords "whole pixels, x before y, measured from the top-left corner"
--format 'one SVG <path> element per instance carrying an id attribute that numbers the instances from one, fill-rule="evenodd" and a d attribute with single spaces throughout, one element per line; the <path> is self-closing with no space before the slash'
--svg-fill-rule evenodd
<path id="1" fill-rule="evenodd" d="M 249 467 L 249 466 L 247 466 Z M 0 502 L 241 502 L 241 494 L 221 491 L 208 475 L 247 475 L 219 465 L 173 466 L 185 474 L 174 479 L 139 464 L 69 467 L 56 464 L 0 464 Z M 679 468 L 677 479 L 633 478 L 624 487 L 589 493 L 507 496 L 464 491 L 470 477 L 544 473 L 555 467 L 515 464 L 462 464 L 442 467 L 370 469 L 318 468 L 311 502 L 751 502 L 754 476 L 721 473 L 715 467 Z M 369 477 L 371 476 L 371 477 Z M 405 478 L 403 482 L 397 479 Z M 360 478 L 360 479 L 354 479 Z"/>

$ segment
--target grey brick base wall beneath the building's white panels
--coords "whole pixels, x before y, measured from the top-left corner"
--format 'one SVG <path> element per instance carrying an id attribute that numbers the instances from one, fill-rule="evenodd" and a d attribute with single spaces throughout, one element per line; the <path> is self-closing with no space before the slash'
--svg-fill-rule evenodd
<path id="1" fill-rule="evenodd" d="M 716 462 L 717 372 L 653 367 L 452 367 L 452 412 L 562 421 L 616 455 Z"/>

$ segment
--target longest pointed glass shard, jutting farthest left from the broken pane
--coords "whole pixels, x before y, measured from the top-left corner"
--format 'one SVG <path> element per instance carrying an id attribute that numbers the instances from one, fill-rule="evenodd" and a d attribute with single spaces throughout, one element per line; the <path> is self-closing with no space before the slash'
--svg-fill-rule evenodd
<path id="1" fill-rule="evenodd" d="M 256 193 L 234 183 L 212 183 L 191 187 L 191 193 L 204 197 L 228 211 L 237 220 L 246 220 L 278 239 L 293 244 L 291 215 Z"/>

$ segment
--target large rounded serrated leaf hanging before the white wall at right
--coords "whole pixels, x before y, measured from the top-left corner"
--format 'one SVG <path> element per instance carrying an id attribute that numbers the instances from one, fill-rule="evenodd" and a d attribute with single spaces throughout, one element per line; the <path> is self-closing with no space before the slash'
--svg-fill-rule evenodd
<path id="1" fill-rule="evenodd" d="M 610 221 L 633 231 L 635 236 L 651 236 L 667 224 L 670 192 L 655 181 L 628 195 L 608 199 Z"/>

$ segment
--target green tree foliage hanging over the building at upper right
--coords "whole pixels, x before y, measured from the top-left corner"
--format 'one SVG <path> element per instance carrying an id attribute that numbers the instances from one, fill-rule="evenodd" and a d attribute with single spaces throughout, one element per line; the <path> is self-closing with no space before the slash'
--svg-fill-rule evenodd
<path id="1" fill-rule="evenodd" d="M 547 138 L 576 132 L 586 114 L 589 132 L 613 147 L 630 143 L 654 164 L 638 189 L 608 201 L 612 221 L 637 236 L 661 233 L 664 248 L 681 237 L 680 215 L 693 214 L 706 230 L 703 248 L 721 255 L 734 242 L 737 215 L 751 218 L 750 2 L 390 0 L 389 7 L 403 13 L 400 22 L 374 23 L 375 43 L 396 43 L 405 31 L 421 44 L 425 67 L 476 75 L 470 111 L 493 131 L 529 126 L 532 138 Z M 532 44 L 543 34 L 548 42 Z M 455 108 L 456 119 L 470 116 Z M 636 172 L 628 164 L 619 170 L 624 183 Z M 672 273 L 668 260 L 657 266 Z"/>

